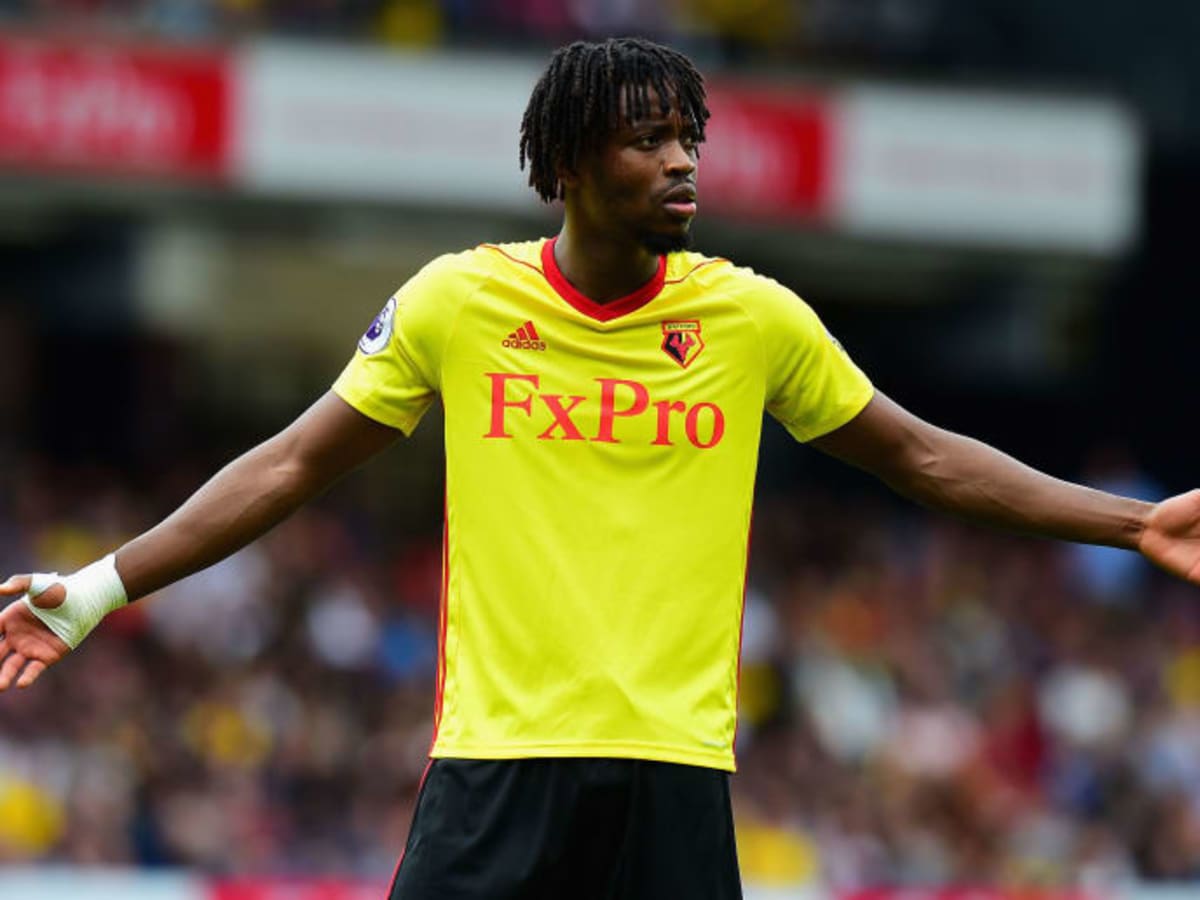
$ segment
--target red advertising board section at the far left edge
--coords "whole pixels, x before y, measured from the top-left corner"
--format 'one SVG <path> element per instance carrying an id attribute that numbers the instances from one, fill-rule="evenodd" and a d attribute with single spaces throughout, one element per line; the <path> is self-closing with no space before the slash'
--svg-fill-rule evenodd
<path id="1" fill-rule="evenodd" d="M 216 52 L 0 38 L 0 166 L 221 178 L 230 80 Z"/>

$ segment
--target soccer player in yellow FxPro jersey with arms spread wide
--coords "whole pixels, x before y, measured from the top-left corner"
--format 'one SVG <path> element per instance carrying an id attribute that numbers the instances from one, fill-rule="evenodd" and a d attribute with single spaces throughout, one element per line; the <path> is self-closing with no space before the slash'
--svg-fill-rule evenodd
<path id="1" fill-rule="evenodd" d="M 928 506 L 1138 550 L 1200 582 L 1200 491 L 1157 505 L 911 415 L 787 288 L 688 252 L 701 76 L 641 40 L 554 53 L 521 164 L 550 240 L 430 263 L 332 390 L 114 556 L 19 575 L 0 689 L 210 565 L 445 406 L 432 762 L 392 900 L 740 896 L 728 773 L 762 412 Z"/>

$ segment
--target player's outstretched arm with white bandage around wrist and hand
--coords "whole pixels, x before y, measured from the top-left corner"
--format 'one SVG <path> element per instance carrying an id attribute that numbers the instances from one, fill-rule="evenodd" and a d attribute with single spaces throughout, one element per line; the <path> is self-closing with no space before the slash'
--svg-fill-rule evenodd
<path id="1" fill-rule="evenodd" d="M 109 611 L 226 558 L 400 432 L 326 394 L 292 425 L 238 457 L 145 534 L 79 572 L 0 583 L 0 691 L 29 686 Z"/>

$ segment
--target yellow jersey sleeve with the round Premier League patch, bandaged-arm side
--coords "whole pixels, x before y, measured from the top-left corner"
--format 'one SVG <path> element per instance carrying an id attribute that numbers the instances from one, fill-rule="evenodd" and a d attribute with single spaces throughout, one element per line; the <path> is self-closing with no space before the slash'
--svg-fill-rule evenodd
<path id="1" fill-rule="evenodd" d="M 366 416 L 412 434 L 442 383 L 442 358 L 464 286 L 440 257 L 388 299 L 334 392 Z"/>

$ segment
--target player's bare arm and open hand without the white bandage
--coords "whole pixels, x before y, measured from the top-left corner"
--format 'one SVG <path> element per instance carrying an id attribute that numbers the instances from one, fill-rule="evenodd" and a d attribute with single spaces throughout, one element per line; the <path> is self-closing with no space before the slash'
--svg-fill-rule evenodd
<path id="1" fill-rule="evenodd" d="M 924 506 L 1009 530 L 1136 550 L 1200 583 L 1200 491 L 1151 504 L 1062 481 L 930 425 L 878 392 L 854 419 L 811 443 Z"/>

